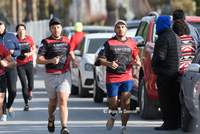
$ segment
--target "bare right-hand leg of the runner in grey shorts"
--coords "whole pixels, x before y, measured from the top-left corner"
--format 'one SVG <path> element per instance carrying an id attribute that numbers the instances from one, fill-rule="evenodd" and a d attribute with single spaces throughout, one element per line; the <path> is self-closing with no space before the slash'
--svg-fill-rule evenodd
<path id="1" fill-rule="evenodd" d="M 67 127 L 68 120 L 68 108 L 67 100 L 69 98 L 69 93 L 57 92 L 58 105 L 59 105 L 59 117 L 62 127 Z"/>

